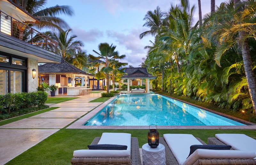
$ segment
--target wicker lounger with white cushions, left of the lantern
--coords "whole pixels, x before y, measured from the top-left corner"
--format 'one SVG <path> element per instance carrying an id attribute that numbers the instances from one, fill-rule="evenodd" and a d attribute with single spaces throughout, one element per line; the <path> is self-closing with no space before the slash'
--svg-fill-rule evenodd
<path id="1" fill-rule="evenodd" d="M 130 133 L 102 133 L 96 137 L 91 145 L 117 144 L 126 145 L 126 150 L 76 150 L 74 151 L 71 164 L 106 164 L 106 165 L 140 165 L 140 151 L 138 138 L 131 137 Z"/>

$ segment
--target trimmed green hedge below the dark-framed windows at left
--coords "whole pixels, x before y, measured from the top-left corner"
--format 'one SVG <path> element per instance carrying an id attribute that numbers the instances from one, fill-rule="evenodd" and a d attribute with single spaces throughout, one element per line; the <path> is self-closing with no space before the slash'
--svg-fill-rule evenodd
<path id="1" fill-rule="evenodd" d="M 44 91 L 0 95 L 0 114 L 10 114 L 20 109 L 36 107 L 44 104 L 46 100 L 47 93 Z"/>

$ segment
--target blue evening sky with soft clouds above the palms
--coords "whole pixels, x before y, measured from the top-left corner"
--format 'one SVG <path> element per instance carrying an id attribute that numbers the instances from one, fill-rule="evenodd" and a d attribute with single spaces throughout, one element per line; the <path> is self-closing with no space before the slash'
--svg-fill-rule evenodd
<path id="1" fill-rule="evenodd" d="M 215 0 L 220 6 L 225 0 Z M 198 21 L 198 1 L 190 0 L 190 7 L 195 5 L 194 22 Z M 74 15 L 59 17 L 65 20 L 72 34 L 84 43 L 82 49 L 87 54 L 96 55 L 98 45 L 107 42 L 116 46 L 119 55 L 126 57 L 121 62 L 128 66 L 139 67 L 142 58 L 146 57 L 149 40 L 152 36 L 139 38 L 140 33 L 149 30 L 143 27 L 143 18 L 148 11 L 154 11 L 157 6 L 167 11 L 171 4 L 180 4 L 179 0 L 48 0 L 46 7 L 68 5 Z M 211 11 L 211 0 L 201 0 L 202 16 Z M 68 28 L 68 27 L 67 27 Z"/>

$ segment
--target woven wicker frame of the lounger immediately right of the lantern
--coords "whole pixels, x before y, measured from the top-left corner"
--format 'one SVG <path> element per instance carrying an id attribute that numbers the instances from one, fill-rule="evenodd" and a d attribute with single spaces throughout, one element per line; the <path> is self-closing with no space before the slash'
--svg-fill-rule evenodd
<path id="1" fill-rule="evenodd" d="M 199 138 L 203 145 L 206 145 L 204 141 Z M 179 165 L 175 156 L 173 155 L 171 149 L 167 145 L 163 137 L 159 138 L 159 143 L 163 144 L 165 147 L 165 159 L 166 165 Z M 193 165 L 256 165 L 255 159 L 198 159 Z"/>

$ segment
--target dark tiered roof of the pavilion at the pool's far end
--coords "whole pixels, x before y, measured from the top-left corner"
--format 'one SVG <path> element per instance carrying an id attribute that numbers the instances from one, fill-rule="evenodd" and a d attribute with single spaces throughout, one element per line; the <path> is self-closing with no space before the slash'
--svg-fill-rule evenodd
<path id="1" fill-rule="evenodd" d="M 121 77 L 122 79 L 127 78 L 140 78 L 140 79 L 156 79 L 155 76 L 152 76 L 148 73 L 147 68 L 125 68 L 124 72 L 127 73 L 127 75 Z"/>

